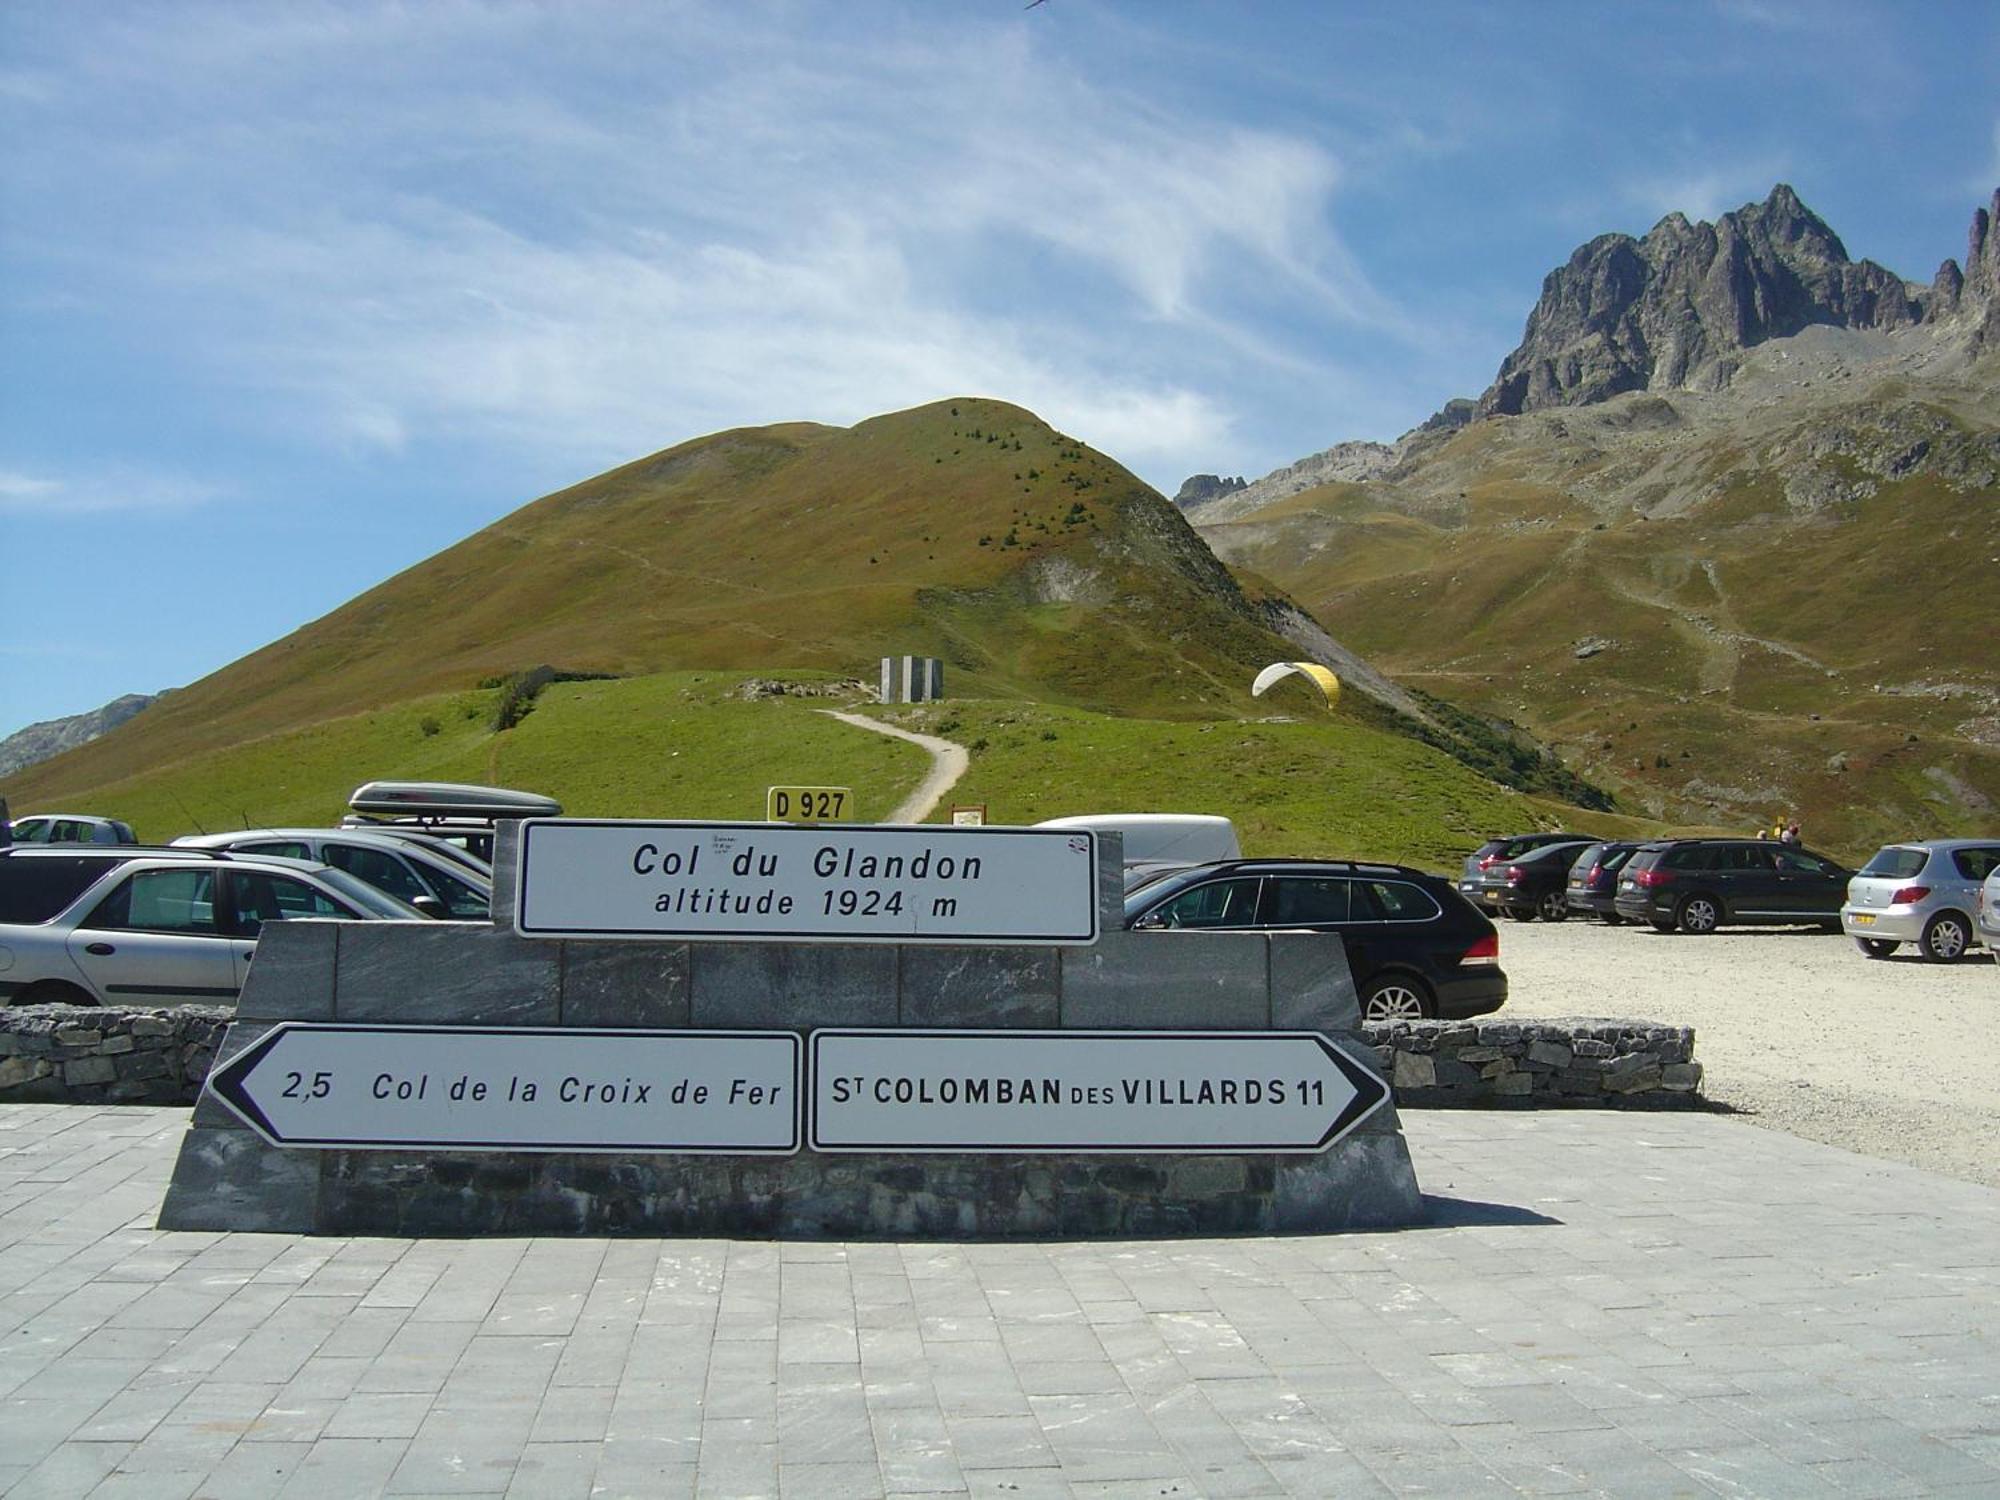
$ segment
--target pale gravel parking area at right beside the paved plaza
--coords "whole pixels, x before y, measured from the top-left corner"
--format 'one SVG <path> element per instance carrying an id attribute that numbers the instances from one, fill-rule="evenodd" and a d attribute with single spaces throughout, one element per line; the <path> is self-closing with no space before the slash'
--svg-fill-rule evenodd
<path id="1" fill-rule="evenodd" d="M 1864 958 L 1798 928 L 1500 920 L 1508 1020 L 1694 1028 L 1702 1092 L 1744 1118 L 2000 1188 L 2000 968 Z"/>

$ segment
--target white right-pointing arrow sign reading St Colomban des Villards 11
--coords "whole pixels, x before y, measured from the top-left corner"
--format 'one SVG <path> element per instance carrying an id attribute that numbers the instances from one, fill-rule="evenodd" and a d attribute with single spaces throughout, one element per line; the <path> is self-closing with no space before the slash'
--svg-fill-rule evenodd
<path id="1" fill-rule="evenodd" d="M 1322 1152 L 1388 1084 L 1318 1032 L 812 1034 L 822 1152 Z"/>

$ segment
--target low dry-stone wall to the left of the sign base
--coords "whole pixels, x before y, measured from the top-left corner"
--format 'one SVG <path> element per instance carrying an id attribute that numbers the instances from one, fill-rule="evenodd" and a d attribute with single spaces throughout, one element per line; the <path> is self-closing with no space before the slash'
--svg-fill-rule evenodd
<path id="1" fill-rule="evenodd" d="M 192 1104 L 228 1024 L 212 1006 L 0 1008 L 0 1104 Z"/>

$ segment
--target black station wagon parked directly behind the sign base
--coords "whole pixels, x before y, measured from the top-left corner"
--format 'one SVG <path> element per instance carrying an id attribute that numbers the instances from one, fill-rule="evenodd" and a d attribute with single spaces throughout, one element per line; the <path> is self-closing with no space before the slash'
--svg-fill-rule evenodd
<path id="1" fill-rule="evenodd" d="M 1506 1004 L 1500 934 L 1450 880 L 1400 864 L 1222 860 L 1126 896 L 1146 932 L 1338 932 L 1364 1020 L 1458 1020 Z"/>

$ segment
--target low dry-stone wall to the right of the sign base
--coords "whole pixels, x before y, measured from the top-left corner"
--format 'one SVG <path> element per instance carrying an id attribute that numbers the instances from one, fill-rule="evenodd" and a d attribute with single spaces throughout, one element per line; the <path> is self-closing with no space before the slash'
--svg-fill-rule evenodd
<path id="1" fill-rule="evenodd" d="M 1424 1106 L 1688 1108 L 1702 1064 L 1692 1026 L 1646 1020 L 1418 1020 L 1366 1026 L 1396 1090 Z"/>

